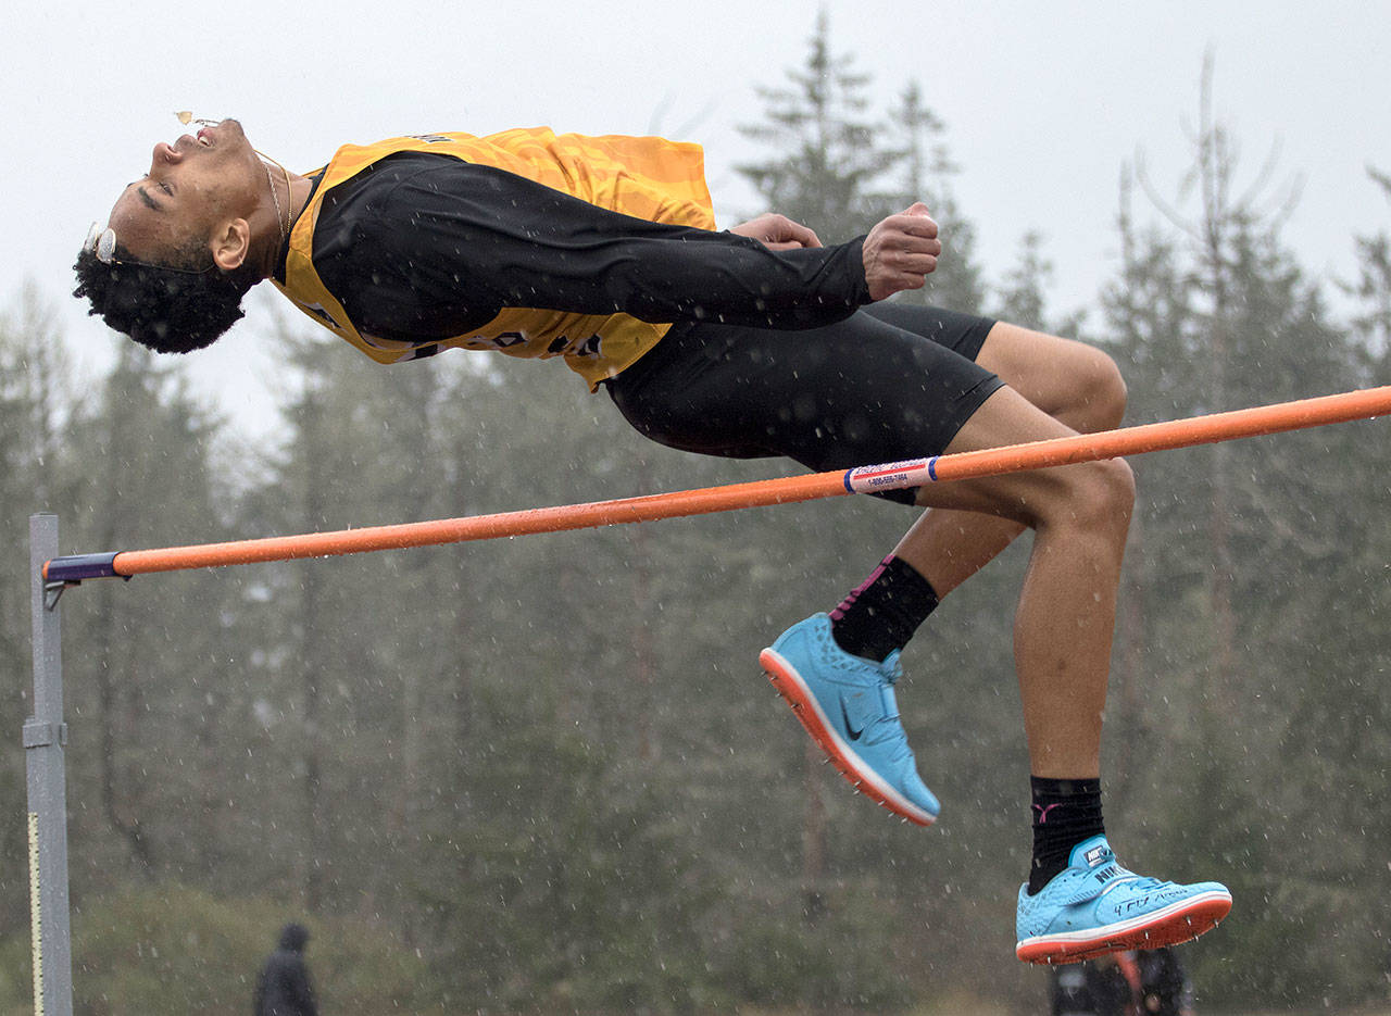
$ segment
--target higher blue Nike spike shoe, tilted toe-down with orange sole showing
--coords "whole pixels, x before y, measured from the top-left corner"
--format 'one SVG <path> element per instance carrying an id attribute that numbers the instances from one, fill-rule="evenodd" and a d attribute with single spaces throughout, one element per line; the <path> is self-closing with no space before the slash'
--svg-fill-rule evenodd
<path id="1" fill-rule="evenodd" d="M 814 614 L 778 636 L 758 662 L 857 791 L 910 823 L 936 821 L 942 806 L 918 777 L 899 721 L 897 650 L 882 664 L 850 656 L 832 637 L 830 618 Z"/>

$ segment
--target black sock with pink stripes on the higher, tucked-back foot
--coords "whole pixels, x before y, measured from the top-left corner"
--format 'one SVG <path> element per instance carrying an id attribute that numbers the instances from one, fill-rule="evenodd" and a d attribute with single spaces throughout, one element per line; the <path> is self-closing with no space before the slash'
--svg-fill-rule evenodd
<path id="1" fill-rule="evenodd" d="M 882 661 L 908 644 L 936 605 L 932 585 L 890 554 L 830 612 L 830 633 L 851 656 Z"/>

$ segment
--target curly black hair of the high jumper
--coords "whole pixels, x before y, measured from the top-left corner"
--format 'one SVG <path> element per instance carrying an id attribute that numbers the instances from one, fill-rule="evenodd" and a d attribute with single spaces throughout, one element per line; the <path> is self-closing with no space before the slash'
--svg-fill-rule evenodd
<path id="1" fill-rule="evenodd" d="M 257 281 L 249 266 L 223 271 L 207 246 L 189 242 L 167 266 L 136 263 L 117 245 L 110 264 L 92 251 L 78 255 L 74 296 L 92 302 L 89 315 L 156 352 L 191 352 L 211 345 L 245 315 L 242 296 Z M 199 269 L 204 269 L 199 273 Z"/>

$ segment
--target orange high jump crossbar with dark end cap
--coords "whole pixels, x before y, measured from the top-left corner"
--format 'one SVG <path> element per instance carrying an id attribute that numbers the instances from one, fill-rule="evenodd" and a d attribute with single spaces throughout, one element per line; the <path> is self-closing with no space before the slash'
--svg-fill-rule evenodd
<path id="1" fill-rule="evenodd" d="M 627 522 L 650 522 L 683 515 L 705 515 L 734 508 L 811 501 L 842 494 L 921 487 L 979 476 L 1025 472 L 1072 462 L 1139 455 L 1195 444 L 1231 441 L 1287 430 L 1321 427 L 1330 423 L 1370 419 L 1391 413 L 1391 386 L 1346 391 L 1337 395 L 1280 402 L 1251 409 L 1234 409 L 1138 427 L 1104 430 L 1049 441 L 1002 448 L 936 455 L 926 459 L 861 466 L 849 472 L 811 473 L 772 480 L 754 480 L 722 487 L 679 490 L 616 501 L 529 508 L 498 515 L 474 515 L 434 522 L 405 522 L 392 526 L 344 529 L 330 533 L 271 536 L 231 543 L 206 543 L 161 550 L 113 551 L 58 557 L 43 568 L 49 583 L 74 583 L 96 578 L 129 578 L 146 572 L 174 572 L 189 568 L 218 568 L 257 561 L 360 554 L 374 550 L 428 547 L 504 536 L 555 533 Z"/>

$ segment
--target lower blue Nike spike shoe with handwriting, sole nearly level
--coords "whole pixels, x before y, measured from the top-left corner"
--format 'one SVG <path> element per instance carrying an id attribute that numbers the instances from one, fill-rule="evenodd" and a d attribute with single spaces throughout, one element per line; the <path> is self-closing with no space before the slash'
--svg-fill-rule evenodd
<path id="1" fill-rule="evenodd" d="M 1212 931 L 1230 910 L 1225 885 L 1136 875 L 1116 862 L 1106 836 L 1092 836 L 1072 848 L 1068 867 L 1036 895 L 1020 887 L 1014 952 L 1025 963 L 1077 963 L 1157 949 Z"/>

